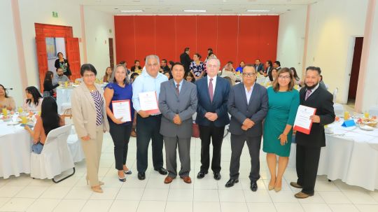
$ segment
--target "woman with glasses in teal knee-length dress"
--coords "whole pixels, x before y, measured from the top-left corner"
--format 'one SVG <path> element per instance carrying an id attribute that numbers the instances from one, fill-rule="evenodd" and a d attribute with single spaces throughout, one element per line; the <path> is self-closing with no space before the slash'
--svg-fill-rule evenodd
<path id="1" fill-rule="evenodd" d="M 279 70 L 277 76 L 272 87 L 267 89 L 269 109 L 265 118 L 262 150 L 267 153 L 270 172 L 268 189 L 279 192 L 282 187 L 282 176 L 288 165 L 292 127 L 300 104 L 300 97 L 299 92 L 293 89 L 295 79 L 290 69 Z M 277 174 L 276 155 L 279 156 Z"/>

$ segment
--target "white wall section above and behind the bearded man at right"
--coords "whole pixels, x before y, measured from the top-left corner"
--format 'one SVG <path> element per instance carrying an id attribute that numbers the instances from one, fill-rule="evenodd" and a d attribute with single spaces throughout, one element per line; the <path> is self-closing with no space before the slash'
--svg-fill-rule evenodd
<path id="1" fill-rule="evenodd" d="M 353 58 L 354 37 L 363 36 L 367 0 L 323 0 L 311 5 L 306 66 L 322 69 L 336 101 L 345 104 Z"/>

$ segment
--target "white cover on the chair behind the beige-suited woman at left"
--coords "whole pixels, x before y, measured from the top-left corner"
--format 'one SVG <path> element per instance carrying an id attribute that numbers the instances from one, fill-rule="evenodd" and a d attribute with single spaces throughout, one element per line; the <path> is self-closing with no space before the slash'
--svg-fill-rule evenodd
<path id="1" fill-rule="evenodd" d="M 75 167 L 67 147 L 71 125 L 52 129 L 46 138 L 40 155 L 31 153 L 30 176 L 39 179 L 52 179 L 67 169 Z"/>

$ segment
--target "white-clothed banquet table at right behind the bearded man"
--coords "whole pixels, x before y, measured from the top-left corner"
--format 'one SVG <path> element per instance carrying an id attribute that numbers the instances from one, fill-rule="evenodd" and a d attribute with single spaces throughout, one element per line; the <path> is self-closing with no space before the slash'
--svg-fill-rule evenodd
<path id="1" fill-rule="evenodd" d="M 342 127 L 343 122 L 340 119 L 326 127 L 326 146 L 321 148 L 318 175 L 367 190 L 378 189 L 378 129 Z M 295 150 L 296 144 L 292 143 L 290 167 L 295 167 Z"/>

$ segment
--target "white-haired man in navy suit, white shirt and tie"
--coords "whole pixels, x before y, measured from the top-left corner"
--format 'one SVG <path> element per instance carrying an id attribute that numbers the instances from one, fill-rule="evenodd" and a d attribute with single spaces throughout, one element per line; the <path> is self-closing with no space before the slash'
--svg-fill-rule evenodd
<path id="1" fill-rule="evenodd" d="M 207 76 L 197 80 L 197 118 L 195 122 L 200 127 L 201 138 L 201 169 L 197 178 L 204 178 L 208 173 L 210 156 L 209 147 L 212 138 L 213 160 L 211 170 L 216 180 L 221 179 L 221 148 L 225 125 L 230 123 L 227 111 L 230 83 L 217 73 L 221 66 L 219 59 L 207 60 Z"/>

